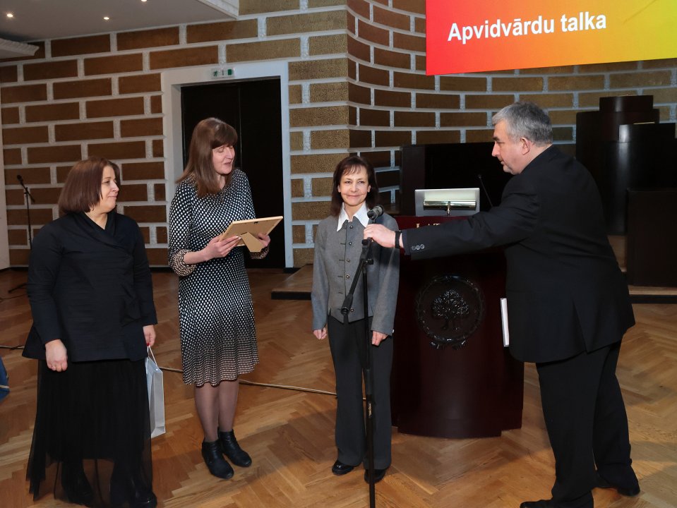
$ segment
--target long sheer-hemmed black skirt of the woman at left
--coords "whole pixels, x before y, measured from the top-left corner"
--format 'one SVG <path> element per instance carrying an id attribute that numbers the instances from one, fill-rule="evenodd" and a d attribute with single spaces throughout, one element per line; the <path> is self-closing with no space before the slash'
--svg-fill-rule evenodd
<path id="1" fill-rule="evenodd" d="M 95 506 L 109 504 L 110 478 L 152 487 L 145 360 L 70 362 L 54 372 L 39 361 L 37 413 L 26 478 L 33 498 L 61 485 L 64 464 L 83 464 Z"/>

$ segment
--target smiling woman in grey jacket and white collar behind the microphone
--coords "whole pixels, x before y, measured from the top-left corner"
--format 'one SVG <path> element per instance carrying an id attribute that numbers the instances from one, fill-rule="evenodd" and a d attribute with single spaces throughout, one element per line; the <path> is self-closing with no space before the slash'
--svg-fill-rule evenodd
<path id="1" fill-rule="evenodd" d="M 364 315 L 361 284 L 352 308 L 341 314 L 345 295 L 356 277 L 362 233 L 369 224 L 367 210 L 376 204 L 378 185 L 373 166 L 362 157 L 346 157 L 337 164 L 332 183 L 331 215 L 320 222 L 313 265 L 313 334 L 329 346 L 336 374 L 337 460 L 332 473 L 343 475 L 361 462 L 366 468 L 366 437 L 362 410 L 360 356 L 365 349 L 365 326 L 371 330 L 374 404 L 374 480 L 390 466 L 390 368 L 393 363 L 393 321 L 400 277 L 400 251 L 373 244 L 373 265 L 367 267 L 369 315 Z M 378 218 L 397 230 L 388 214 Z M 364 474 L 365 481 L 367 473 Z"/>

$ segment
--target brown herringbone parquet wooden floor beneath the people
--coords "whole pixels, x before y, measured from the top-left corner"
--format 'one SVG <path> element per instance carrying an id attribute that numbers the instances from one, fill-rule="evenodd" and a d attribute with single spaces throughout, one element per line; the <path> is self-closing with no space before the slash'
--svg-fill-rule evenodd
<path id="1" fill-rule="evenodd" d="M 25 272 L 0 272 L 0 345 L 23 344 L 30 327 Z M 251 274 L 261 363 L 246 380 L 333 392 L 328 344 L 310 332 L 308 301 L 273 300 L 283 273 Z M 176 277 L 153 274 L 160 318 L 155 356 L 161 367 L 180 368 Z M 639 497 L 594 490 L 597 508 L 677 507 L 677 306 L 636 305 L 635 326 L 625 337 L 618 367 L 633 442 Z M 402 339 L 404 340 L 404 338 Z M 0 403 L 0 506 L 57 507 L 51 496 L 28 495 L 25 468 L 35 418 L 35 361 L 0 349 L 11 394 Z M 219 480 L 200 456 L 203 438 L 181 375 L 164 373 L 167 434 L 153 440 L 155 493 L 164 507 L 275 508 L 367 507 L 361 471 L 330 472 L 335 398 L 258 385 L 241 386 L 236 434 L 253 458 Z M 445 440 L 393 434 L 393 466 L 376 485 L 376 506 L 398 508 L 517 508 L 523 500 L 549 497 L 553 458 L 544 430 L 537 377 L 525 369 L 521 429 L 501 437 Z"/>

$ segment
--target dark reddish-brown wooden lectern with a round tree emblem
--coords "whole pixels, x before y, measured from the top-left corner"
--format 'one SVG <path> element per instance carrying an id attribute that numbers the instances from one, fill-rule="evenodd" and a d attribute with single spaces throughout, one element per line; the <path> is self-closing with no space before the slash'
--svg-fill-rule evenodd
<path id="1" fill-rule="evenodd" d="M 400 229 L 465 220 L 396 219 Z M 456 438 L 520 428 L 524 364 L 503 346 L 503 252 L 400 262 L 393 425 L 402 433 Z"/>

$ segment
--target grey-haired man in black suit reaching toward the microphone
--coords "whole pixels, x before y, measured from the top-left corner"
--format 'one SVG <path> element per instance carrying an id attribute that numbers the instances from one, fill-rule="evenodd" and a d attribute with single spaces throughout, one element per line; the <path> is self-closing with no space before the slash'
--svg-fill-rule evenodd
<path id="1" fill-rule="evenodd" d="M 371 225 L 364 237 L 412 259 L 504 247 L 510 352 L 536 363 L 555 456 L 552 498 L 521 508 L 592 508 L 594 487 L 637 495 L 616 379 L 621 339 L 635 319 L 597 187 L 552 145 L 550 119 L 536 104 L 511 104 L 492 121 L 492 155 L 514 175 L 501 205 L 401 232 Z"/>

